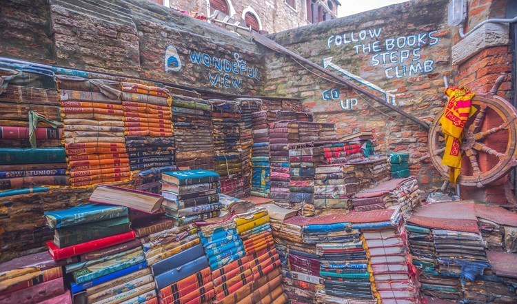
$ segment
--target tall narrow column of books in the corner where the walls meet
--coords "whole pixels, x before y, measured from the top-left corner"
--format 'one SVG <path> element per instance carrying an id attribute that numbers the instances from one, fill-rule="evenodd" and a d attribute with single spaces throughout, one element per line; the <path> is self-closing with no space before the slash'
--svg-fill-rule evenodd
<path id="1" fill-rule="evenodd" d="M 241 141 L 241 167 L 243 172 L 243 196 L 251 195 L 252 188 L 252 113 L 261 110 L 261 99 L 235 99 L 241 108 L 240 141 Z"/>

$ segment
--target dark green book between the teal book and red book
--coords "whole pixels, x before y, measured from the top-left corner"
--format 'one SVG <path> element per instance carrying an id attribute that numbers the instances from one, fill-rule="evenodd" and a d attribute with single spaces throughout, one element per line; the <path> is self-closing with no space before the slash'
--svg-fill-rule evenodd
<path id="1" fill-rule="evenodd" d="M 114 234 L 121 234 L 130 230 L 129 219 L 125 216 L 85 225 L 63 227 L 54 230 L 54 244 L 61 248 Z"/>

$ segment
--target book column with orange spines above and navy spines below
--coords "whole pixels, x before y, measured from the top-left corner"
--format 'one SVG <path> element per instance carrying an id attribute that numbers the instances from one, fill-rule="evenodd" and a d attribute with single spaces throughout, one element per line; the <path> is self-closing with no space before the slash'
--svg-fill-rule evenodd
<path id="1" fill-rule="evenodd" d="M 121 90 L 130 169 L 174 165 L 168 90 L 128 82 L 121 83 Z"/>

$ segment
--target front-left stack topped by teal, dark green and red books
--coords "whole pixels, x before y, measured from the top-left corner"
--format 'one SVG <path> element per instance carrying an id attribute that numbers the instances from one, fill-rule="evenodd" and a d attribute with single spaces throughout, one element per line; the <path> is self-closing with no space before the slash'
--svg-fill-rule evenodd
<path id="1" fill-rule="evenodd" d="M 45 213 L 54 229 L 47 243 L 52 259 L 76 257 L 64 266 L 79 303 L 119 303 L 156 298 L 156 284 L 141 243 L 130 230 L 128 207 L 88 204 Z"/>

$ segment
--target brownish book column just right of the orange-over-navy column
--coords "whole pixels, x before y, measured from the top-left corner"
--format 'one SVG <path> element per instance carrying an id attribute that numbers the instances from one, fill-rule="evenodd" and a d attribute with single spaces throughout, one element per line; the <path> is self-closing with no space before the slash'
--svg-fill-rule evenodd
<path id="1" fill-rule="evenodd" d="M 176 165 L 214 169 L 212 107 L 203 99 L 172 94 Z"/>

